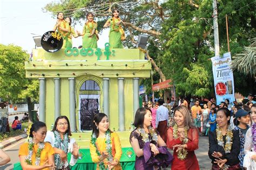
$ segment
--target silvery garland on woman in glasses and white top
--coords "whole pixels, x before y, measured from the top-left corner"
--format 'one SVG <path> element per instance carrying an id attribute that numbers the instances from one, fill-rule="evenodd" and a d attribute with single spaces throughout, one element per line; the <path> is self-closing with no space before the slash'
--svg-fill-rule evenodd
<path id="1" fill-rule="evenodd" d="M 54 131 L 53 133 L 55 136 L 54 147 L 59 148 L 60 150 L 63 150 L 65 153 L 68 153 L 69 142 L 70 142 L 69 134 L 65 133 L 62 140 L 58 131 Z M 60 161 L 59 154 L 54 155 L 54 160 L 55 160 L 55 165 L 57 166 L 58 169 L 62 169 L 62 167 L 65 166 L 65 163 Z"/>

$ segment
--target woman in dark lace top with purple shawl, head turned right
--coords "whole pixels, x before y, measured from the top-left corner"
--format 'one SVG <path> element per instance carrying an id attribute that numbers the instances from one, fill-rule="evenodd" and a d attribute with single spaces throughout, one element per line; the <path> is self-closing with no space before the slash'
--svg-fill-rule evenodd
<path id="1" fill-rule="evenodd" d="M 172 155 L 167 150 L 164 140 L 151 127 L 151 110 L 139 108 L 134 117 L 134 129 L 130 143 L 136 154 L 135 169 L 158 169 L 167 167 L 172 162 Z"/>

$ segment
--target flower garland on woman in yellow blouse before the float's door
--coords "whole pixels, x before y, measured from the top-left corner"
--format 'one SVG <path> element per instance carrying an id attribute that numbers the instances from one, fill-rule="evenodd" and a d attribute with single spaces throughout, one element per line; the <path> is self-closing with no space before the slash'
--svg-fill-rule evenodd
<path id="1" fill-rule="evenodd" d="M 111 131 L 110 130 L 107 130 L 106 133 L 105 133 L 105 144 L 106 144 L 106 151 L 107 153 L 109 153 L 108 157 L 107 157 L 107 161 L 109 162 L 112 162 L 113 161 L 113 155 L 112 155 L 112 144 L 111 144 Z M 92 136 L 91 136 L 91 144 L 93 146 L 95 146 L 96 148 L 96 153 L 98 156 L 100 156 L 100 152 L 98 150 L 98 147 L 97 147 L 97 144 L 96 144 L 96 134 L 95 133 L 92 133 Z M 99 162 L 99 169 L 100 170 L 107 170 L 108 168 L 105 167 L 104 165 L 104 161 L 100 161 Z"/>

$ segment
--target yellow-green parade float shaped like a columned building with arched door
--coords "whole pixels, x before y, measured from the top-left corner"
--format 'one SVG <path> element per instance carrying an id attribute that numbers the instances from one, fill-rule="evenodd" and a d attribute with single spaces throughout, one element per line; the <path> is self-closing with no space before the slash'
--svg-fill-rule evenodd
<path id="1" fill-rule="evenodd" d="M 119 134 L 122 167 L 134 168 L 129 137 L 139 108 L 139 82 L 150 76 L 151 62 L 138 48 L 111 49 L 109 43 L 104 49 L 60 49 L 58 34 L 51 31 L 41 42 L 45 48 L 33 49 L 33 60 L 25 62 L 26 77 L 39 80 L 39 121 L 51 129 L 58 116 L 69 118 L 72 137 L 80 146 L 74 169 L 95 166 L 89 144 L 98 112 L 109 117 L 111 130 Z"/>

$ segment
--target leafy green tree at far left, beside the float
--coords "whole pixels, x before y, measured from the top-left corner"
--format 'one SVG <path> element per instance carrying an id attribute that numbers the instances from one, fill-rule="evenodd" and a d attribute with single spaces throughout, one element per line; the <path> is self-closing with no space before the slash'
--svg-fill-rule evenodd
<path id="1" fill-rule="evenodd" d="M 21 47 L 0 44 L 0 96 L 12 103 L 26 100 L 31 120 L 31 100 L 38 101 L 39 84 L 25 78 L 24 61 L 28 59 Z"/>

